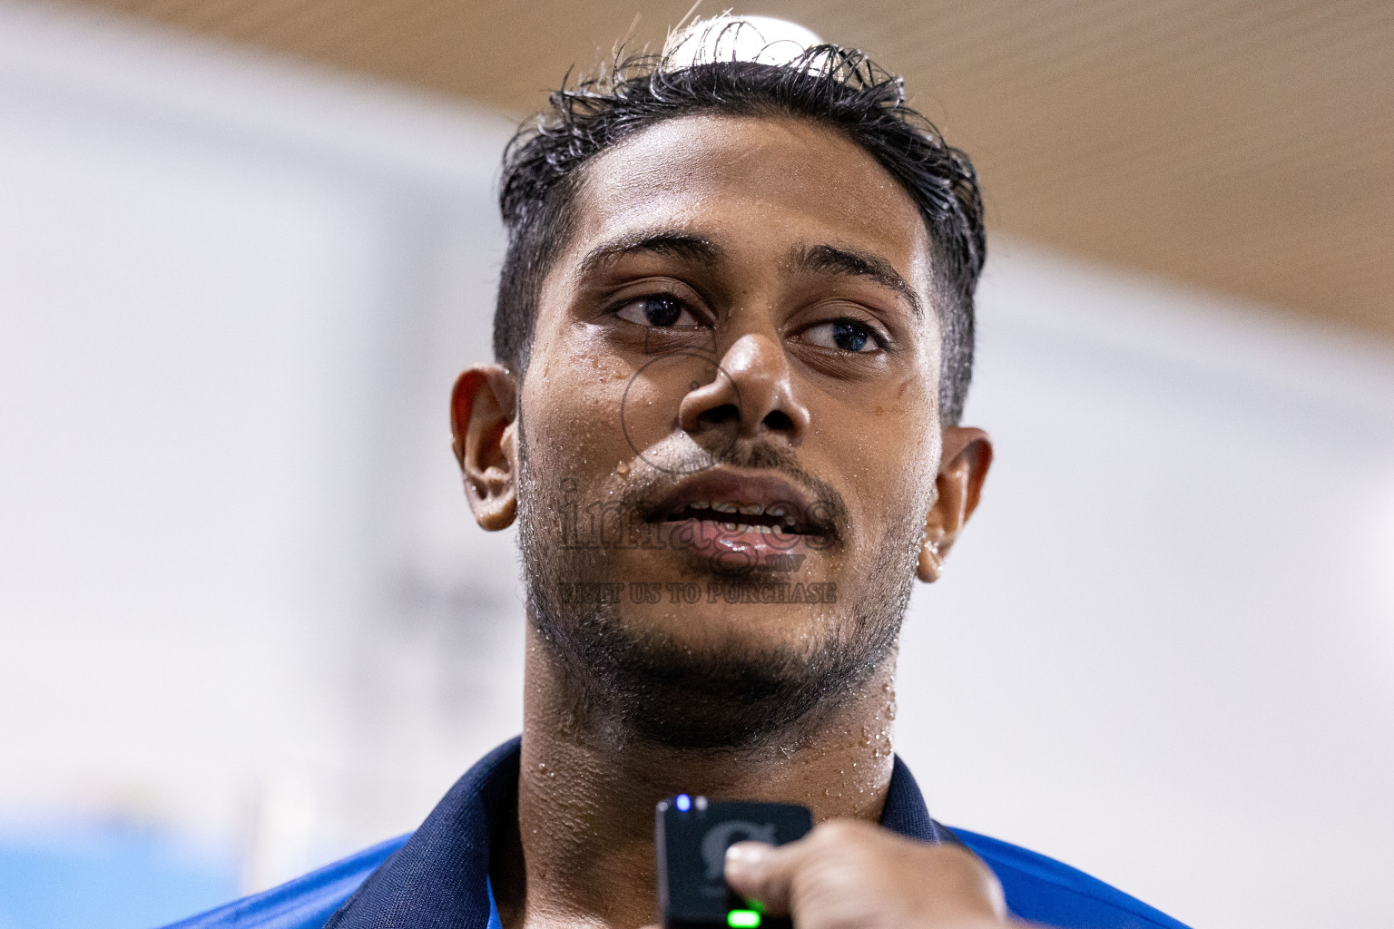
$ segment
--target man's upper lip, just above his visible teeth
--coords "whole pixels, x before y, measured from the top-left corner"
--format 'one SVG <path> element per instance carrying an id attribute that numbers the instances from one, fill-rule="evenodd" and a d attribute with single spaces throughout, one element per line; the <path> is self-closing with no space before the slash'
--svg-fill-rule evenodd
<path id="1" fill-rule="evenodd" d="M 684 518 L 779 525 L 795 535 L 821 533 L 809 513 L 807 494 L 775 474 L 746 475 L 712 468 L 686 478 L 659 500 L 650 521 Z"/>

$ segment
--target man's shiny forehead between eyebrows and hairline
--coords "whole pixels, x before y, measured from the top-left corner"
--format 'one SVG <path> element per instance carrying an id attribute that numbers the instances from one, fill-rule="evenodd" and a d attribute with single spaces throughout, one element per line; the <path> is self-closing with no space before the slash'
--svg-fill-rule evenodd
<path id="1" fill-rule="evenodd" d="M 910 195 L 860 145 L 795 118 L 690 116 L 644 130 L 587 164 L 574 221 L 581 253 L 655 228 L 751 256 L 850 245 L 931 299 L 930 238 Z"/>

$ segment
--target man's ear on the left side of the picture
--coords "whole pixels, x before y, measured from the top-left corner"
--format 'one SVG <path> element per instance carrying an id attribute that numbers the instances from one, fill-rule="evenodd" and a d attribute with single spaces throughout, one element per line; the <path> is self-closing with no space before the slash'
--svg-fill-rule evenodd
<path id="1" fill-rule="evenodd" d="M 454 460 L 475 522 L 491 532 L 517 515 L 517 384 L 500 365 L 474 365 L 450 393 Z"/>

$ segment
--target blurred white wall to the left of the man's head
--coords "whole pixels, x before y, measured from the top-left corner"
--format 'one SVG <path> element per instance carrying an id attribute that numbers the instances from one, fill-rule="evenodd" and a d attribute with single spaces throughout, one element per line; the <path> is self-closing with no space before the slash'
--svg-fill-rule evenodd
<path id="1" fill-rule="evenodd" d="M 466 531 L 445 429 L 510 128 L 0 7 L 13 816 L 238 837 L 266 883 L 411 827 L 517 728 L 512 586 L 471 570 L 512 552 Z"/>

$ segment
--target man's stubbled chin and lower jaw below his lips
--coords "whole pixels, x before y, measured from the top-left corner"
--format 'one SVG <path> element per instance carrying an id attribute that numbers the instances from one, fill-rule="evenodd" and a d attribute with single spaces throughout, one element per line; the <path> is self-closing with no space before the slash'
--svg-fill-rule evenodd
<path id="1" fill-rule="evenodd" d="M 548 611 L 530 618 L 585 694 L 587 727 L 669 748 L 753 751 L 799 741 L 894 650 L 896 624 L 815 610 Z"/>

